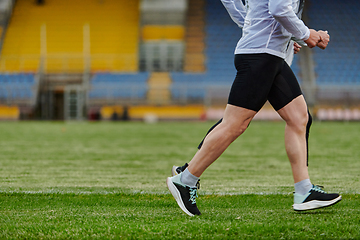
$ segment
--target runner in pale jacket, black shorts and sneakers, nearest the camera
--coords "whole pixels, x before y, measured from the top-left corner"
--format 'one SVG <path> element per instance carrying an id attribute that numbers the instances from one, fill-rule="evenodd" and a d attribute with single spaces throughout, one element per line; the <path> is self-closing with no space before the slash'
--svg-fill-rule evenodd
<path id="1" fill-rule="evenodd" d="M 286 122 L 285 149 L 291 164 L 295 193 L 294 210 L 333 205 L 339 194 L 327 194 L 312 185 L 307 167 L 307 138 L 311 125 L 300 86 L 284 61 L 291 38 L 310 48 L 327 47 L 327 32 L 309 29 L 298 17 L 302 0 L 221 0 L 231 18 L 243 26 L 235 49 L 237 74 L 229 93 L 222 121 L 207 134 L 187 168 L 167 178 L 167 186 L 180 208 L 190 216 L 200 215 L 196 184 L 200 175 L 248 127 L 268 100 Z"/>

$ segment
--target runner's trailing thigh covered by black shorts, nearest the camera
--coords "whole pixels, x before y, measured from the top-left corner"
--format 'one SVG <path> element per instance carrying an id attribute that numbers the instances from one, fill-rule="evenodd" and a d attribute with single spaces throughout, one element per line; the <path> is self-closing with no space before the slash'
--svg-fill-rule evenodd
<path id="1" fill-rule="evenodd" d="M 236 78 L 228 104 L 259 111 L 268 99 L 283 59 L 270 54 L 235 55 Z"/>

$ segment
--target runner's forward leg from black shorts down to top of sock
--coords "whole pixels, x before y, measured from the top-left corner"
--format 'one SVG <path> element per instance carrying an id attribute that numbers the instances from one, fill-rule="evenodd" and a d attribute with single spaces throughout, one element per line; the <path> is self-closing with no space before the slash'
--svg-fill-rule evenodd
<path id="1" fill-rule="evenodd" d="M 284 62 L 269 92 L 268 100 L 285 120 L 285 149 L 295 183 L 309 179 L 307 170 L 307 129 L 310 128 L 308 108 L 299 83 Z"/>

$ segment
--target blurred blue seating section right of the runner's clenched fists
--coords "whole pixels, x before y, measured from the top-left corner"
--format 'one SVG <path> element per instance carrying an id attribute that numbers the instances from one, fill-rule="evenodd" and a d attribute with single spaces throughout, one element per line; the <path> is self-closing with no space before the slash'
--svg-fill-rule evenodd
<path id="1" fill-rule="evenodd" d="M 319 11 L 321 9 L 321 11 Z M 313 49 L 319 120 L 358 121 L 360 100 L 359 1 L 311 1 L 309 25 L 329 31 L 325 51 Z"/>

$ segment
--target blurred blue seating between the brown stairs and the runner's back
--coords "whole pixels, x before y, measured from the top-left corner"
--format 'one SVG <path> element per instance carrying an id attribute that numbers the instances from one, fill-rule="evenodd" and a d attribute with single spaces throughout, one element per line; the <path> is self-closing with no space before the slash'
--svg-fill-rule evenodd
<path id="1" fill-rule="evenodd" d="M 172 72 L 171 92 L 176 101 L 204 99 L 214 88 L 225 89 L 226 95 L 235 77 L 234 49 L 241 29 L 230 19 L 221 1 L 205 1 L 204 7 L 206 71 Z"/>

